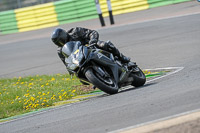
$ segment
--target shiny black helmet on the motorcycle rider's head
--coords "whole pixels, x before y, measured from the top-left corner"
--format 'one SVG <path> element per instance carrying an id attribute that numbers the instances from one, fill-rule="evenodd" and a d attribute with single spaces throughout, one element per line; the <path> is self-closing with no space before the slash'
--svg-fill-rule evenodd
<path id="1" fill-rule="evenodd" d="M 69 38 L 69 34 L 61 29 L 61 28 L 57 28 L 55 29 L 55 31 L 53 32 L 52 36 L 51 36 L 51 40 L 58 46 L 58 47 L 62 47 L 65 45 L 65 43 L 67 42 Z"/>

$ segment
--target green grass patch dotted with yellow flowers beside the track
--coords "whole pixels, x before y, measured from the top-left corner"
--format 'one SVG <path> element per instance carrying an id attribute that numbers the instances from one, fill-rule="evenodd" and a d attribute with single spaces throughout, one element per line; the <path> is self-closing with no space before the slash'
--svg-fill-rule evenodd
<path id="1" fill-rule="evenodd" d="M 0 119 L 53 106 L 91 91 L 90 86 L 83 86 L 68 74 L 0 79 Z"/>

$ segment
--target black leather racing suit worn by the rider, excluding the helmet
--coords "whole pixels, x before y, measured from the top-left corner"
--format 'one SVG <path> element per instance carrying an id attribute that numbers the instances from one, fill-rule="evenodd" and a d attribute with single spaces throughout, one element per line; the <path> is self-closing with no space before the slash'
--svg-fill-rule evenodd
<path id="1" fill-rule="evenodd" d="M 90 29 L 86 29 L 86 28 L 82 28 L 82 27 L 76 27 L 76 28 L 72 28 L 69 31 L 67 31 L 67 33 L 69 34 L 69 39 L 67 40 L 69 41 L 80 41 L 82 45 L 86 45 L 86 44 L 93 44 L 96 43 L 96 47 L 103 49 L 105 51 L 108 51 L 110 53 L 112 53 L 114 56 L 119 57 L 119 59 L 121 58 L 122 60 L 124 60 L 125 56 L 123 56 L 119 50 L 110 42 L 110 41 L 99 41 L 99 33 L 95 30 L 90 30 Z M 63 61 L 63 63 L 65 64 L 65 57 L 62 54 L 62 47 L 58 47 L 58 55 L 60 57 L 60 59 Z M 130 59 L 128 59 L 126 57 L 126 61 L 128 62 Z M 67 65 L 67 64 L 65 64 Z"/>

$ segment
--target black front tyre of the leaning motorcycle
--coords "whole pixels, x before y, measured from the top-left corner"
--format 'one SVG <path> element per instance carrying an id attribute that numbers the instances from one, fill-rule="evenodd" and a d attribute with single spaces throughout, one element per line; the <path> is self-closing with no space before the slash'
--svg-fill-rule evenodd
<path id="1" fill-rule="evenodd" d="M 118 93 L 118 86 L 111 78 L 103 78 L 92 68 L 89 68 L 85 73 L 86 78 L 97 88 L 108 93 L 116 94 Z"/>

